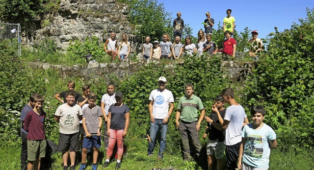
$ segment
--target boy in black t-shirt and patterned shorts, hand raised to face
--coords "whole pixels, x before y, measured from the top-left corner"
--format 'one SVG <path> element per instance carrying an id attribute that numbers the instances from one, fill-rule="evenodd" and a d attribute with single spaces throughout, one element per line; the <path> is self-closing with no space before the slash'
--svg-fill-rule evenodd
<path id="1" fill-rule="evenodd" d="M 219 112 L 212 112 L 208 117 L 205 116 L 204 119 L 208 122 L 203 138 L 208 136 L 207 141 L 207 160 L 208 169 L 213 170 L 215 162 L 217 160 L 217 170 L 223 170 L 223 157 L 225 150 L 225 132 L 219 123 L 217 114 L 220 114 L 222 118 L 225 117 L 226 109 L 224 108 L 225 102 L 222 96 L 216 97 L 215 106 Z M 209 135 L 207 135 L 209 134 Z"/>

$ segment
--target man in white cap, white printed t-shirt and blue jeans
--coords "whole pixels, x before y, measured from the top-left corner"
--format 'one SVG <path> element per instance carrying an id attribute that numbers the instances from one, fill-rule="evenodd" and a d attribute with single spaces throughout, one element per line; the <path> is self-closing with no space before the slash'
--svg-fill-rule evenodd
<path id="1" fill-rule="evenodd" d="M 151 138 L 151 142 L 148 143 L 147 155 L 153 156 L 155 137 L 157 131 L 160 130 L 161 140 L 157 156 L 158 160 L 162 160 L 163 158 L 163 152 L 166 147 L 168 121 L 174 108 L 173 95 L 169 90 L 166 89 L 166 85 L 167 85 L 166 78 L 164 76 L 159 77 L 158 79 L 159 88 L 153 90 L 151 92 L 151 95 L 149 96 L 149 99 L 151 100 L 149 103 L 149 114 L 151 118 L 151 129 L 149 135 Z"/>

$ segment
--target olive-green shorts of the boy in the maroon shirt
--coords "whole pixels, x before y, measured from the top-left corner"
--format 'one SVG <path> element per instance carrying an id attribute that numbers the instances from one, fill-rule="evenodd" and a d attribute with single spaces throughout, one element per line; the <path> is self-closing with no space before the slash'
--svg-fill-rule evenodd
<path id="1" fill-rule="evenodd" d="M 27 140 L 27 159 L 28 161 L 35 161 L 36 158 L 43 158 L 46 156 L 46 145 L 45 139 L 42 140 Z"/>

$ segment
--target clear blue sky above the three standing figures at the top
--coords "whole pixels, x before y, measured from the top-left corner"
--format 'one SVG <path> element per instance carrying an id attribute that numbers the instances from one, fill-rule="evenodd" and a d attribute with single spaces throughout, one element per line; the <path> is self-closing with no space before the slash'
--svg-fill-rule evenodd
<path id="1" fill-rule="evenodd" d="M 259 38 L 266 38 L 270 32 L 289 29 L 293 22 L 299 23 L 298 19 L 306 18 L 306 7 L 312 9 L 314 0 L 158 0 L 163 3 L 166 11 L 171 12 L 171 17 L 177 18 L 177 12 L 182 13 L 184 24 L 189 24 L 193 29 L 193 36 L 197 35 L 206 19 L 208 11 L 215 20 L 214 29 L 221 25 L 226 10 L 232 9 L 231 16 L 235 17 L 237 31 L 249 29 L 258 30 Z"/>

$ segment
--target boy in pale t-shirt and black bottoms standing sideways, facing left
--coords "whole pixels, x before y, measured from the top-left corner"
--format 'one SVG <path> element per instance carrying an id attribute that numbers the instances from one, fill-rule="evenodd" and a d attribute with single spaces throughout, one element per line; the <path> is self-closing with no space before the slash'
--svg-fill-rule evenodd
<path id="1" fill-rule="evenodd" d="M 217 114 L 217 116 L 222 128 L 226 129 L 225 152 L 228 170 L 235 170 L 237 169 L 237 158 L 242 141 L 242 127 L 248 124 L 249 120 L 246 117 L 243 107 L 235 101 L 235 92 L 232 88 L 224 89 L 221 95 L 224 101 L 229 103 L 230 106 L 226 109 L 224 118 L 220 114 Z M 212 106 L 212 110 L 217 110 L 215 105 Z"/>

